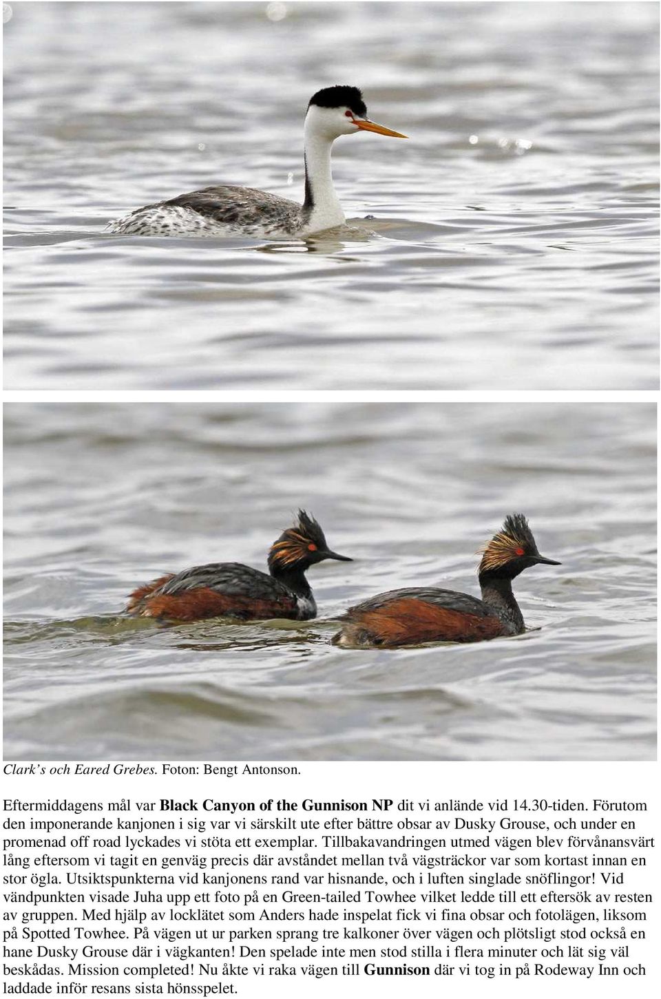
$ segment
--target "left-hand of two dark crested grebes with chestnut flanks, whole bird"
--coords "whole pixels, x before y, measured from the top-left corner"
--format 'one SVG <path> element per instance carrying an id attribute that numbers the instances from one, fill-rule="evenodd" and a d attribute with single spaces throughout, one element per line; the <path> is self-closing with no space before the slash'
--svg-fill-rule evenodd
<path id="1" fill-rule="evenodd" d="M 317 520 L 301 509 L 299 522 L 271 545 L 271 575 L 241 562 L 196 565 L 140 586 L 131 593 L 126 613 L 181 621 L 203 617 L 308 620 L 317 615 L 317 603 L 306 570 L 325 558 L 352 561 L 329 549 Z"/>

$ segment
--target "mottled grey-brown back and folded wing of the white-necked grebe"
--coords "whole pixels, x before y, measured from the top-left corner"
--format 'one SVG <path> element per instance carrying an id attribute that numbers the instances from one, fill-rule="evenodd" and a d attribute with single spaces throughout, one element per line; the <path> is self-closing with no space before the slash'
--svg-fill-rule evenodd
<path id="1" fill-rule="evenodd" d="M 288 209 L 288 214 L 301 212 L 301 205 L 288 198 L 279 198 L 278 195 L 270 194 L 268 191 L 231 184 L 219 184 L 202 188 L 200 191 L 191 191 L 190 194 L 181 194 L 177 198 L 148 207 L 161 208 L 164 205 L 190 208 L 207 219 L 214 219 L 215 222 L 227 226 L 263 225 L 265 219 L 283 215 L 285 208 Z"/>

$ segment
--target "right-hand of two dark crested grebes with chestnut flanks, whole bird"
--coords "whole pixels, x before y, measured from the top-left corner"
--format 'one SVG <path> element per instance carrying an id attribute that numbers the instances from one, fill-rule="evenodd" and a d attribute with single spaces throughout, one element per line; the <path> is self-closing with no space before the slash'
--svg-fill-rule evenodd
<path id="1" fill-rule="evenodd" d="M 482 641 L 520 634 L 523 616 L 512 579 L 530 565 L 559 565 L 537 551 L 521 513 L 506 517 L 502 530 L 483 548 L 478 575 L 482 598 L 452 589 L 391 589 L 349 607 L 340 617 L 334 645 L 396 648 L 424 641 Z"/>

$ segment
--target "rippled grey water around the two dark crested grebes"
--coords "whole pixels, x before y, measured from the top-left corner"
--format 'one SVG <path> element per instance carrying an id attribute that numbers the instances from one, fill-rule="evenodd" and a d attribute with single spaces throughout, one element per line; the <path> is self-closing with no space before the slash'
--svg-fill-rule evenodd
<path id="1" fill-rule="evenodd" d="M 5 410 L 5 758 L 654 758 L 653 406 Z M 355 558 L 311 570 L 317 620 L 114 617 L 163 571 L 264 567 L 300 505 Z M 478 592 L 519 510 L 562 561 L 517 580 L 537 630 L 330 644 L 383 589 Z"/>

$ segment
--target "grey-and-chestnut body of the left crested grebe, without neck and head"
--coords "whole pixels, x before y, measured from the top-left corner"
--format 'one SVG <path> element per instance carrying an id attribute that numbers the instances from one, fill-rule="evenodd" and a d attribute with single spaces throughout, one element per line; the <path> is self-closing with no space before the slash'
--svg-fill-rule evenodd
<path id="1" fill-rule="evenodd" d="M 130 603 L 127 610 L 143 617 L 170 620 L 297 616 L 296 597 L 282 583 L 240 562 L 196 565 L 163 578 L 161 586 L 142 587 L 147 593 L 139 602 Z"/>

